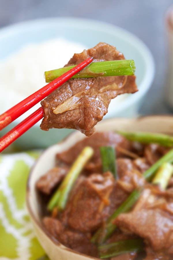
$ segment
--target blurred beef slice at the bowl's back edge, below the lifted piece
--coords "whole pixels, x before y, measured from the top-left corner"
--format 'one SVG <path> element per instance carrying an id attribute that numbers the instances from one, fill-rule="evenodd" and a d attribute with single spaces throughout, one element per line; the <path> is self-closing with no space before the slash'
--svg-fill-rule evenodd
<path id="1" fill-rule="evenodd" d="M 100 146 L 113 146 L 116 149 L 117 145 L 127 150 L 130 150 L 131 148 L 131 143 L 117 133 L 97 132 L 92 136 L 77 142 L 67 151 L 58 153 L 57 159 L 66 164 L 72 164 L 85 146 L 91 146 L 94 149 L 94 154 L 85 169 L 91 172 L 101 172 Z M 120 156 L 122 156 L 122 154 L 116 151 L 116 157 Z"/>

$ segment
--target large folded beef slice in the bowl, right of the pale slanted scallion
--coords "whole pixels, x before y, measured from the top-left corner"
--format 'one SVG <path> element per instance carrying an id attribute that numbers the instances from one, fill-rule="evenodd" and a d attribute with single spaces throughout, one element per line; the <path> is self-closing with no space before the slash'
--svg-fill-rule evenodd
<path id="1" fill-rule="evenodd" d="M 109 206 L 113 185 L 110 172 L 80 177 L 63 211 L 62 222 L 84 233 L 97 230 L 107 216 L 105 207 Z"/>

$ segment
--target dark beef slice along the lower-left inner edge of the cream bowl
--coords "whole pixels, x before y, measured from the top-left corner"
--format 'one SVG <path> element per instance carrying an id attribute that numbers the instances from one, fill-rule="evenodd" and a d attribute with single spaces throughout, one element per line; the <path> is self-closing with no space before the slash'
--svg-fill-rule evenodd
<path id="1" fill-rule="evenodd" d="M 96 246 L 90 242 L 90 234 L 83 234 L 65 228 L 61 222 L 55 218 L 45 217 L 43 223 L 52 238 L 55 238 L 63 245 L 86 255 L 93 257 L 98 256 Z"/>

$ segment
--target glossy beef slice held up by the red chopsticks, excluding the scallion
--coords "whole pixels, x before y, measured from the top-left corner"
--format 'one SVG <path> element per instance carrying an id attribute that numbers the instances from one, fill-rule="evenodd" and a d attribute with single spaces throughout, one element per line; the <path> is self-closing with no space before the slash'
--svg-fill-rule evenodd
<path id="1" fill-rule="evenodd" d="M 115 47 L 100 42 L 75 53 L 66 66 L 79 64 L 87 57 L 93 57 L 93 62 L 125 59 Z M 72 128 L 88 136 L 93 134 L 94 126 L 108 112 L 111 99 L 138 90 L 135 79 L 135 76 L 112 76 L 68 80 L 41 102 L 44 108 L 41 129 Z"/>

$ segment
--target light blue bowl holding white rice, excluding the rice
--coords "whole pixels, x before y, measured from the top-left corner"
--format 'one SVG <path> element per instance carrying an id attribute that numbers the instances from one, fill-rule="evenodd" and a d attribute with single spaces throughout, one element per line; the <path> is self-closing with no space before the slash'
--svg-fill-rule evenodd
<path id="1" fill-rule="evenodd" d="M 89 48 L 98 42 L 107 42 L 123 52 L 126 59 L 133 59 L 136 64 L 139 91 L 119 103 L 114 111 L 108 113 L 107 117 L 129 117 L 137 114 L 140 102 L 153 81 L 154 62 L 146 45 L 122 28 L 81 18 L 46 18 L 18 23 L 0 29 L 0 60 L 28 43 L 39 43 L 57 37 L 80 42 Z M 18 120 L 6 127 L 1 131 L 1 135 L 17 123 L 19 123 Z M 22 135 L 15 144 L 22 149 L 44 148 L 59 142 L 72 131 L 70 129 L 50 129 L 45 132 L 40 130 L 37 124 Z"/>

